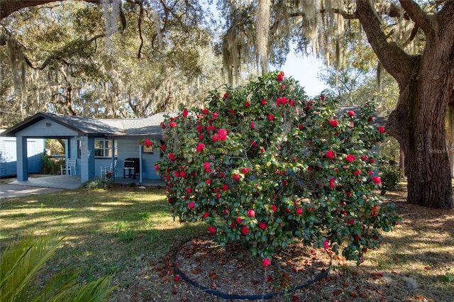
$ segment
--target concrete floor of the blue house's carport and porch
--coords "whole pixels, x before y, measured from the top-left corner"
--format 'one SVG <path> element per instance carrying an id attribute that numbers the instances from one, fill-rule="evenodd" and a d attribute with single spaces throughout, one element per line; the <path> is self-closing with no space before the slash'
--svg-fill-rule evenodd
<path id="1" fill-rule="evenodd" d="M 160 179 L 142 179 L 142 183 L 139 183 L 138 177 L 125 178 L 116 177 L 114 180 L 116 184 L 136 184 L 140 186 L 164 186 L 164 181 Z M 23 186 L 42 186 L 47 188 L 58 188 L 58 189 L 79 189 L 81 184 L 80 175 L 52 175 L 45 177 L 29 177 L 26 181 L 12 181 L 10 184 L 17 184 Z"/>

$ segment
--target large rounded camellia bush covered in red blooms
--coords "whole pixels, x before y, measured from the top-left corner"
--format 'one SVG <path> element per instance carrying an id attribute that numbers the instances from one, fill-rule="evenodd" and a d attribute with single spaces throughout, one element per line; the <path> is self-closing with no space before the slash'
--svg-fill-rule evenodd
<path id="1" fill-rule="evenodd" d="M 373 125 L 373 106 L 336 107 L 270 72 L 167 117 L 156 169 L 174 218 L 204 220 L 219 245 L 243 242 L 265 267 L 295 238 L 360 264 L 399 217 L 374 193 L 386 133 Z"/>

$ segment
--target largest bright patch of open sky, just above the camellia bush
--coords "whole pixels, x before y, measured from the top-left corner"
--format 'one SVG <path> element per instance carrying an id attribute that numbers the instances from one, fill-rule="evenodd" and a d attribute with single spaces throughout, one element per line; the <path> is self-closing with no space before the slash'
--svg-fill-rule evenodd
<path id="1" fill-rule="evenodd" d="M 316 96 L 323 89 L 328 88 L 328 86 L 317 79 L 317 72 L 319 72 L 322 65 L 315 57 L 301 57 L 291 52 L 284 65 L 281 67 L 271 67 L 270 71 L 282 70 L 286 77 L 292 76 L 299 81 L 299 85 L 304 87 L 304 91 L 306 91 L 308 96 Z"/>

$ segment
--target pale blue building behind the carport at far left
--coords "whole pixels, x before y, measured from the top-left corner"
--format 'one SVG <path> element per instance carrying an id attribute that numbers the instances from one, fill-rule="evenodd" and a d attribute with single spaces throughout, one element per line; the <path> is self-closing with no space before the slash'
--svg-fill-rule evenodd
<path id="1" fill-rule="evenodd" d="M 0 135 L 4 130 L 0 130 Z M 29 173 L 40 173 L 43 169 L 45 140 L 29 138 L 27 140 L 27 165 Z M 17 174 L 16 138 L 0 137 L 0 177 Z"/>

